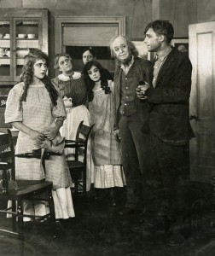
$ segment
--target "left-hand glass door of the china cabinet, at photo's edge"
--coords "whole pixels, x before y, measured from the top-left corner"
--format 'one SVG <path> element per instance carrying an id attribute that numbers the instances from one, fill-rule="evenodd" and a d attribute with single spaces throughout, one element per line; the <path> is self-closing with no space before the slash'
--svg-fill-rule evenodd
<path id="1" fill-rule="evenodd" d="M 12 20 L 0 20 L 0 77 L 4 81 L 12 79 L 10 60 Z"/>

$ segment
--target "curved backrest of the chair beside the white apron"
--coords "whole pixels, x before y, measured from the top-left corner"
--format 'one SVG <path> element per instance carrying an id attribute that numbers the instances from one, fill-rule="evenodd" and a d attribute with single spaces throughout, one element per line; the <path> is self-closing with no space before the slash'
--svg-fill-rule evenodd
<path id="1" fill-rule="evenodd" d="M 93 126 L 94 125 L 84 125 L 84 121 L 81 121 L 78 125 L 78 130 L 76 133 L 75 140 L 79 143 L 84 143 L 84 165 L 86 165 L 88 139 Z M 75 160 L 78 160 L 78 150 L 78 148 L 75 148 Z"/>

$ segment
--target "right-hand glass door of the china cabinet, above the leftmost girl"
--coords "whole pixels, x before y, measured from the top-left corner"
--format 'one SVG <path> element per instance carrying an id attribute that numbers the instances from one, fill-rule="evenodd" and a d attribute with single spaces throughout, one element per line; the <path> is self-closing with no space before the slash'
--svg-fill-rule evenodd
<path id="1" fill-rule="evenodd" d="M 30 49 L 40 48 L 39 20 L 15 20 L 15 80 L 19 80 L 24 56 Z"/>

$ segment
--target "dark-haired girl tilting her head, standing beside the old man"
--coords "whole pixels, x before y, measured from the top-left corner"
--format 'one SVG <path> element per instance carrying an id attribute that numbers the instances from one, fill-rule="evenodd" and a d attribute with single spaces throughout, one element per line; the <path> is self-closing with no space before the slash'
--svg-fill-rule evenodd
<path id="1" fill-rule="evenodd" d="M 125 184 L 119 143 L 113 136 L 113 81 L 107 80 L 103 71 L 97 61 L 87 62 L 83 70 L 90 118 L 95 124 L 91 138 L 94 187 L 97 189 L 123 187 Z"/>

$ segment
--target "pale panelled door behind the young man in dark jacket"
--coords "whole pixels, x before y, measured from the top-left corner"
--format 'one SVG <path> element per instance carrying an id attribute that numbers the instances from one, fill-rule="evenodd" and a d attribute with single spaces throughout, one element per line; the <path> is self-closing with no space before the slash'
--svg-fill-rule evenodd
<path id="1" fill-rule="evenodd" d="M 215 175 L 215 22 L 189 25 L 189 58 L 193 65 L 190 120 L 190 178 L 211 183 Z"/>

